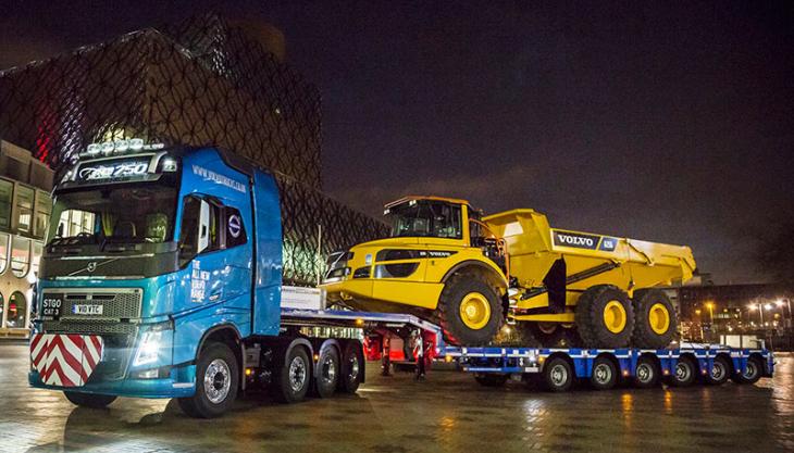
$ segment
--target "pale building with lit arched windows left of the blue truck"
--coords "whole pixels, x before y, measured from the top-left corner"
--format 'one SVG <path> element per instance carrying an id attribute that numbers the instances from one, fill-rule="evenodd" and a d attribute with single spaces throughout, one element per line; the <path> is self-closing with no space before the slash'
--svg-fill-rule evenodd
<path id="1" fill-rule="evenodd" d="M 0 337 L 27 337 L 32 285 L 38 275 L 52 207 L 53 173 L 0 140 Z"/>

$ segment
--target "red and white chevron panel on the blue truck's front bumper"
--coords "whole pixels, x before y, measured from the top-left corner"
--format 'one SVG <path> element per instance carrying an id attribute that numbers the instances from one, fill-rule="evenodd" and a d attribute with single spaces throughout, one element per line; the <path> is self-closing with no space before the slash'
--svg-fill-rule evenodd
<path id="1" fill-rule="evenodd" d="M 36 334 L 30 361 L 47 386 L 80 387 L 102 360 L 102 337 L 77 334 Z"/>

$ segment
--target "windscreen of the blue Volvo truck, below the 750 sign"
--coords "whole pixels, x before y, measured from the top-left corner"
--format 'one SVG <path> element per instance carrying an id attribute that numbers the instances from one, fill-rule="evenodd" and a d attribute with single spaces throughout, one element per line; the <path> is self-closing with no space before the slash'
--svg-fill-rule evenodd
<path id="1" fill-rule="evenodd" d="M 57 193 L 50 246 L 162 243 L 173 240 L 177 190 L 160 183 Z"/>

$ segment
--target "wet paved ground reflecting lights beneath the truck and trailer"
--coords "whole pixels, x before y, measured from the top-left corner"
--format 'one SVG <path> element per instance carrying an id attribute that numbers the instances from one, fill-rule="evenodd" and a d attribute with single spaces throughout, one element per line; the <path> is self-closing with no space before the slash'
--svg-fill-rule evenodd
<path id="1" fill-rule="evenodd" d="M 76 408 L 29 389 L 26 347 L 0 343 L 0 452 L 794 451 L 794 358 L 778 362 L 755 386 L 562 394 L 481 388 L 462 373 L 386 378 L 372 364 L 356 397 L 249 398 L 195 420 L 162 400 Z"/>

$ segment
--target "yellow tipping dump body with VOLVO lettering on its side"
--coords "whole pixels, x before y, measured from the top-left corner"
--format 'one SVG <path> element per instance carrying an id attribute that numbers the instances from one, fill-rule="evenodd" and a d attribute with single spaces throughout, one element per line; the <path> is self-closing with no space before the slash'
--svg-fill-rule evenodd
<path id="1" fill-rule="evenodd" d="M 695 269 L 688 247 L 551 228 L 534 210 L 507 211 L 483 222 L 507 243 L 509 274 L 522 289 L 517 313 L 553 303 L 550 292 L 565 291 L 565 306 L 573 306 L 595 285 L 612 285 L 631 295 L 634 289 L 686 281 Z M 565 265 L 555 268 L 560 260 Z M 562 270 L 565 278 L 553 275 Z"/>

